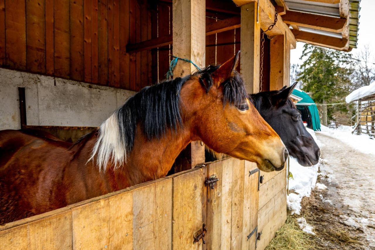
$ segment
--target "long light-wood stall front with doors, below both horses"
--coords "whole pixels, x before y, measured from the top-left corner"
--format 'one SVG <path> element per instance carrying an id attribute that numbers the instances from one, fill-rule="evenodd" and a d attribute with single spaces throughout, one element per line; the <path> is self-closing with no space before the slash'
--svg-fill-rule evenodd
<path id="1" fill-rule="evenodd" d="M 286 173 L 259 173 L 234 158 L 202 165 L 0 226 L 1 248 L 264 249 L 286 218 Z M 203 224 L 206 244 L 194 242 Z"/>

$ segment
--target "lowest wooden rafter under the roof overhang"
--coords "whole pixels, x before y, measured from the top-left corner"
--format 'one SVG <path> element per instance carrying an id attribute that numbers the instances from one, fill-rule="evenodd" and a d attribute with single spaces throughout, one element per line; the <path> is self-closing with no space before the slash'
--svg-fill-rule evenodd
<path id="1" fill-rule="evenodd" d="M 348 39 L 345 38 L 336 38 L 300 30 L 292 30 L 292 33 L 297 41 L 307 42 L 309 44 L 320 45 L 336 50 L 345 50 L 348 43 Z"/>

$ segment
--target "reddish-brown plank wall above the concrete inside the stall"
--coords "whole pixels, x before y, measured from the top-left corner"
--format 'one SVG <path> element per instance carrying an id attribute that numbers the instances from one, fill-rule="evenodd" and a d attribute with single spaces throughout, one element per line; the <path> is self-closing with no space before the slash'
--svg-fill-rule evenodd
<path id="1" fill-rule="evenodd" d="M 0 66 L 139 90 L 157 71 L 151 51 L 128 54 L 126 45 L 157 37 L 153 24 L 167 34 L 170 12 L 147 0 L 1 0 Z M 169 51 L 159 56 L 163 76 Z"/>

